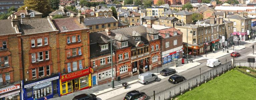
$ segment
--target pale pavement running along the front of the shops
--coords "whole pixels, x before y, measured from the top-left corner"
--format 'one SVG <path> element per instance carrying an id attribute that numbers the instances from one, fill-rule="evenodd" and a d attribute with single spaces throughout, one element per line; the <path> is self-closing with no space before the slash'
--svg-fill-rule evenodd
<path id="1" fill-rule="evenodd" d="M 241 50 L 243 48 L 245 48 L 245 46 L 235 46 L 234 50 L 237 51 L 237 50 Z M 193 62 L 187 63 L 187 61 L 185 59 L 185 64 L 181 64 L 181 60 L 179 60 L 178 67 L 174 67 L 174 62 L 172 62 L 172 63 L 166 64 L 166 65 L 163 65 L 162 67 L 155 68 L 148 72 L 152 72 L 152 73 L 158 75 L 159 81 L 161 81 L 162 79 L 165 79 L 168 77 L 168 76 L 166 77 L 166 76 L 160 75 L 160 71 L 164 68 L 173 68 L 173 69 L 176 69 L 177 73 L 181 73 L 183 71 L 186 71 L 188 69 L 191 69 L 193 67 L 201 65 L 201 63 L 199 63 L 197 61 L 202 61 L 202 60 L 206 60 L 206 59 L 210 59 L 210 58 L 219 58 L 219 57 L 228 55 L 231 52 L 233 52 L 233 47 L 229 48 L 228 51 L 229 51 L 229 53 L 227 53 L 227 50 L 225 50 L 224 52 L 222 51 L 222 49 L 216 50 L 215 53 L 213 53 L 213 52 L 207 53 L 207 56 L 200 55 L 200 56 L 196 56 L 196 58 L 194 58 L 194 57 L 190 58 L 193 60 Z M 128 86 L 126 89 L 122 88 L 122 85 L 121 85 L 121 83 L 125 82 L 125 81 L 128 83 Z M 151 83 L 149 83 L 149 84 L 151 84 Z M 92 87 L 90 89 L 85 89 L 85 90 L 77 91 L 77 92 L 74 92 L 71 94 L 63 95 L 61 97 L 51 98 L 49 100 L 61 100 L 61 99 L 71 100 L 74 96 L 77 96 L 77 95 L 83 94 L 83 93 L 86 93 L 86 94 L 92 93 L 92 94 L 97 95 L 98 100 L 106 100 L 106 99 L 115 97 L 117 95 L 129 92 L 131 90 L 138 89 L 142 86 L 145 86 L 141 83 L 138 83 L 138 75 L 122 79 L 119 82 L 114 81 L 114 85 L 115 86 L 113 89 L 111 88 L 111 83 L 107 83 L 107 84 Z"/>

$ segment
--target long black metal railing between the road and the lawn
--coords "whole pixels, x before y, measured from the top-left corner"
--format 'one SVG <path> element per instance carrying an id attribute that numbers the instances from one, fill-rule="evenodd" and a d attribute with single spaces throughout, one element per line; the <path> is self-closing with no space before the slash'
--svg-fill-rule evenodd
<path id="1" fill-rule="evenodd" d="M 173 98 L 181 93 L 184 93 L 198 85 L 201 85 L 212 78 L 217 77 L 220 74 L 232 69 L 232 62 L 227 62 L 226 64 L 217 66 L 211 70 L 208 70 L 200 75 L 194 76 L 190 79 L 187 79 L 183 82 L 178 83 L 170 88 L 164 89 L 159 92 L 154 92 L 154 94 L 149 95 L 145 98 L 145 100 L 167 100 Z"/>

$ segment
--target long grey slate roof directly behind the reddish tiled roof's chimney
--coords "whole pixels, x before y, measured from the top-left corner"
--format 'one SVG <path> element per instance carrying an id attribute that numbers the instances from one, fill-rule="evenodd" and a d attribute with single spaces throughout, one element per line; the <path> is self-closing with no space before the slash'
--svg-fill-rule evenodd
<path id="1" fill-rule="evenodd" d="M 111 23 L 111 22 L 118 22 L 118 21 L 114 17 L 105 17 L 105 16 L 84 18 L 84 24 L 86 26 L 103 24 L 103 23 Z"/>

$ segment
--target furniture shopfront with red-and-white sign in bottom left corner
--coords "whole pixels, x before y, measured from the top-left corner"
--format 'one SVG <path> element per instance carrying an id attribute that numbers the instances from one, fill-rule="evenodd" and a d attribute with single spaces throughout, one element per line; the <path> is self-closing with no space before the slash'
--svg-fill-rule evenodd
<path id="1" fill-rule="evenodd" d="M 0 89 L 0 100 L 21 100 L 20 83 Z"/>

